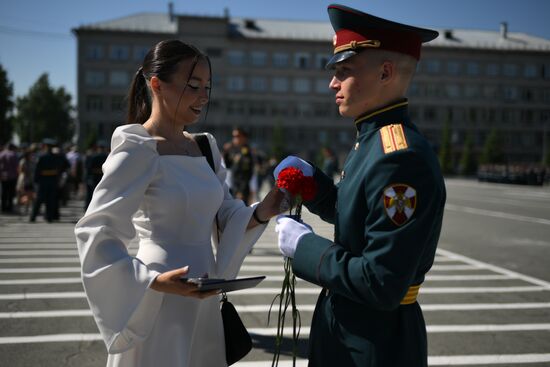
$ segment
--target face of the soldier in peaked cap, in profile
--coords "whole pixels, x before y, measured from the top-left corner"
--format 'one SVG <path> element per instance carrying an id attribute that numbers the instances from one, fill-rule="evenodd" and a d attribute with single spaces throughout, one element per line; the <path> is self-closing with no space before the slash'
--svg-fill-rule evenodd
<path id="1" fill-rule="evenodd" d="M 380 61 L 361 52 L 335 65 L 330 88 L 340 115 L 358 117 L 381 104 Z"/>

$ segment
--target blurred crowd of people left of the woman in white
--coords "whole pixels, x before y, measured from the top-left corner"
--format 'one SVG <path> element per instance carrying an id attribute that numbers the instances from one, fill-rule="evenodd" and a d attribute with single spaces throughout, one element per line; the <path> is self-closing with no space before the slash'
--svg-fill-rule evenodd
<path id="1" fill-rule="evenodd" d="M 85 154 L 54 139 L 19 147 L 6 144 L 0 152 L 2 213 L 28 215 L 30 222 L 43 215 L 51 223 L 60 219 L 59 208 L 69 199 L 84 199 L 86 208 L 107 154 L 101 141 Z"/>

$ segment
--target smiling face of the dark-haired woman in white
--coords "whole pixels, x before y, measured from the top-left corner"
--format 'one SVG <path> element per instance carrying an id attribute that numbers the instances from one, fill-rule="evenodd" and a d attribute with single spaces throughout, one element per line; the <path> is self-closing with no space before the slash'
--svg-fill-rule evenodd
<path id="1" fill-rule="evenodd" d="M 168 82 L 161 82 L 161 106 L 171 123 L 189 125 L 198 120 L 208 103 L 210 69 L 204 58 L 199 58 L 189 76 L 193 60 L 183 61 Z"/>

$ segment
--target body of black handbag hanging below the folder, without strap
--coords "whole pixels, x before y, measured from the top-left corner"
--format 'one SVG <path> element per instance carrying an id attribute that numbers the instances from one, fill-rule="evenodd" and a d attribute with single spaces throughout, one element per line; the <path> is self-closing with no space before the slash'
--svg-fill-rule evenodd
<path id="1" fill-rule="evenodd" d="M 252 338 L 243 325 L 237 310 L 227 300 L 225 293 L 220 301 L 222 304 L 223 333 L 225 337 L 225 359 L 227 365 L 239 361 L 252 349 Z"/>

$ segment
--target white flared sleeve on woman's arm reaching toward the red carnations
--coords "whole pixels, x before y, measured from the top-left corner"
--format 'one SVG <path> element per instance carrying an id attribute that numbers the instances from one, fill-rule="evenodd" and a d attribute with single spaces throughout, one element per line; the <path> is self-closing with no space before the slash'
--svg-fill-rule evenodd
<path id="1" fill-rule="evenodd" d="M 218 145 L 211 134 L 207 136 L 212 149 L 216 175 L 224 190 L 224 200 L 217 214 L 219 228 L 214 221 L 212 231 L 212 240 L 216 248 L 216 273 L 219 278 L 233 279 L 239 273 L 244 258 L 252 246 L 265 231 L 267 224 L 258 225 L 250 230 L 246 229 L 258 203 L 246 206 L 242 200 L 231 196 L 226 184 L 227 169 Z"/>

